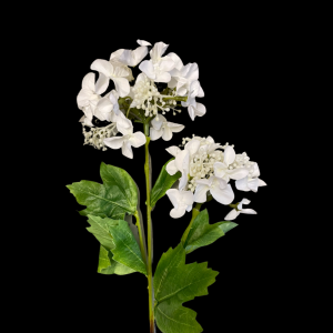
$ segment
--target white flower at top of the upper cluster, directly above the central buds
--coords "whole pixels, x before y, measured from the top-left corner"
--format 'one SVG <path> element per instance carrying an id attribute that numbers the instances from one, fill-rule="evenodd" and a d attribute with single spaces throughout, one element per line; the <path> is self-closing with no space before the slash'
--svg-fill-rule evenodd
<path id="1" fill-rule="evenodd" d="M 171 57 L 162 57 L 168 47 L 169 44 L 163 42 L 155 43 L 149 52 L 151 60 L 144 60 L 139 65 L 139 69 L 154 82 L 169 82 L 171 80 L 169 72 L 175 63 Z"/>

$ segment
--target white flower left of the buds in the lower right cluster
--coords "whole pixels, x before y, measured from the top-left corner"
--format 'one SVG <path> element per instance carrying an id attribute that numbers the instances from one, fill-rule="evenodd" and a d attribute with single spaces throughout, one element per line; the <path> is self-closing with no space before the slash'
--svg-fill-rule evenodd
<path id="1" fill-rule="evenodd" d="M 176 153 L 175 159 L 167 164 L 167 172 L 171 175 L 178 171 L 182 173 L 179 182 L 179 189 L 182 190 L 188 184 L 190 173 L 190 159 L 198 152 L 200 148 L 199 140 L 191 140 L 184 147 L 184 150 Z M 168 150 L 167 150 L 168 151 Z"/>

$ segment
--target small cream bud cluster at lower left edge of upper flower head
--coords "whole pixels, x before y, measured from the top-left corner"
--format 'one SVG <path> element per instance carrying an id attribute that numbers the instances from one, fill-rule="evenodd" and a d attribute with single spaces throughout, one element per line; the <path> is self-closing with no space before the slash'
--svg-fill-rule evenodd
<path id="1" fill-rule="evenodd" d="M 105 151 L 107 147 L 103 140 L 114 137 L 118 133 L 118 130 L 115 123 L 110 123 L 104 128 L 90 128 L 89 132 L 87 132 L 84 125 L 82 125 L 82 133 L 84 135 L 83 144 L 90 144 L 95 149 Z"/>

